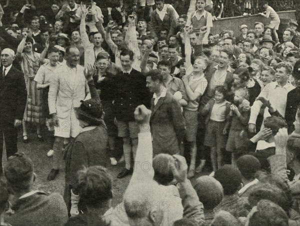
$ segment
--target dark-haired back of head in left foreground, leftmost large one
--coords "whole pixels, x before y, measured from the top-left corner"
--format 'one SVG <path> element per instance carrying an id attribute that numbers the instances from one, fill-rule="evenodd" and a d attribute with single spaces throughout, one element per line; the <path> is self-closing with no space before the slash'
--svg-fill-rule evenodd
<path id="1" fill-rule="evenodd" d="M 24 153 L 16 153 L 8 158 L 4 176 L 13 192 L 28 192 L 33 177 L 33 162 Z"/>

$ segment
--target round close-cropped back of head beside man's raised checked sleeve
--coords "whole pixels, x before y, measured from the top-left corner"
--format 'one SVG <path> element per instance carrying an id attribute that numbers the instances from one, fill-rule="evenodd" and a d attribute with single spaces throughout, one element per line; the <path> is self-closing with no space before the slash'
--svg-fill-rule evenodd
<path id="1" fill-rule="evenodd" d="M 219 181 L 211 176 L 200 176 L 196 179 L 194 188 L 199 201 L 205 210 L 216 207 L 223 198 L 223 188 Z"/>

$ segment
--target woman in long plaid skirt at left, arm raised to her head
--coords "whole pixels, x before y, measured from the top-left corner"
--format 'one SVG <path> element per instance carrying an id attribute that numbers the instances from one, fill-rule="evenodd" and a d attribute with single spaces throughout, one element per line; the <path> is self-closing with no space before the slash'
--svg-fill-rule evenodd
<path id="1" fill-rule="evenodd" d="M 42 115 L 42 90 L 38 90 L 36 82 L 33 80 L 37 70 L 40 67 L 39 53 L 32 50 L 33 39 L 23 32 L 23 39 L 17 47 L 16 58 L 20 62 L 22 72 L 24 73 L 27 104 L 23 117 L 23 142 L 28 142 L 28 122 L 36 124 L 36 135 L 39 141 L 42 141 L 40 123 L 43 123 Z"/>

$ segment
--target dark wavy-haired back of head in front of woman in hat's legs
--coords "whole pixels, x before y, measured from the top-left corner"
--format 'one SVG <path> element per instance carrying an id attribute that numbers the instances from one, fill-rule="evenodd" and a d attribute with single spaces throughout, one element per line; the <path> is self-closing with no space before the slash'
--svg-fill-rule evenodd
<path id="1" fill-rule="evenodd" d="M 89 166 L 77 172 L 76 186 L 80 202 L 98 208 L 112 198 L 112 179 L 108 170 L 102 166 Z"/>

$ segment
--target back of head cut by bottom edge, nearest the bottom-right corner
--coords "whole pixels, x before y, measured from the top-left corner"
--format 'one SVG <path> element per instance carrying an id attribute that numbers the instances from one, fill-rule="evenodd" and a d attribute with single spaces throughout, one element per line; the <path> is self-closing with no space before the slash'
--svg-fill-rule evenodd
<path id="1" fill-rule="evenodd" d="M 248 226 L 287 226 L 288 216 L 284 210 L 270 200 L 260 200 L 249 216 Z"/>

